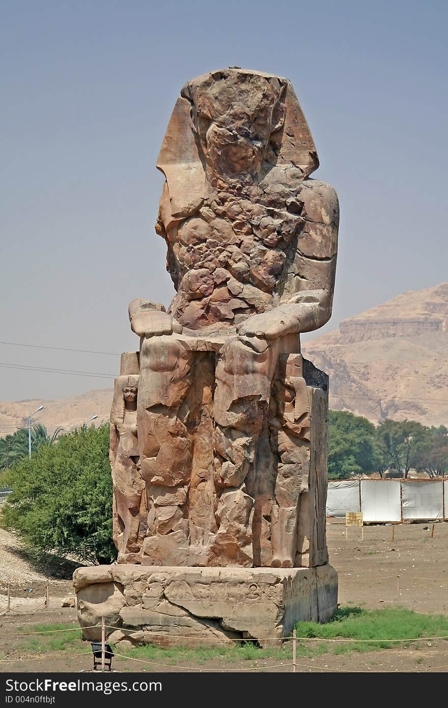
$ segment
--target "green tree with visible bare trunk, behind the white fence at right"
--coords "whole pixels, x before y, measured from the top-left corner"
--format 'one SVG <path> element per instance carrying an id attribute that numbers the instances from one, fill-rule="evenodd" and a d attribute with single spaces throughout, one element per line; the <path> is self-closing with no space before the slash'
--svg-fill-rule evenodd
<path id="1" fill-rule="evenodd" d="M 386 419 L 377 428 L 381 464 L 394 467 L 407 479 L 409 470 L 417 468 L 430 447 L 430 430 L 416 421 Z"/>

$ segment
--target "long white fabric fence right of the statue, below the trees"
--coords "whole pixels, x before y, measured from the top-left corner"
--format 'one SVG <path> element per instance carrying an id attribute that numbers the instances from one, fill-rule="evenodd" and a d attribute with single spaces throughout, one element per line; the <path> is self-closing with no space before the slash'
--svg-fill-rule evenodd
<path id="1" fill-rule="evenodd" d="M 328 481 L 326 515 L 362 511 L 367 522 L 448 519 L 448 480 L 343 479 Z"/>

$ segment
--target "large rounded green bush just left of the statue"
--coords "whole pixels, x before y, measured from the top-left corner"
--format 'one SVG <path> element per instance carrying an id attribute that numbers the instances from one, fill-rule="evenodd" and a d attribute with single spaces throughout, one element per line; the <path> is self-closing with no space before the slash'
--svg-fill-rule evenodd
<path id="1" fill-rule="evenodd" d="M 35 554 L 75 554 L 83 561 L 110 563 L 112 479 L 109 428 L 77 429 L 57 445 L 40 445 L 4 472 L 13 491 L 2 525 L 16 530 Z"/>

